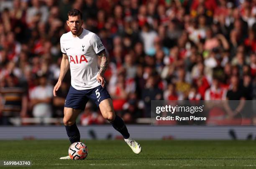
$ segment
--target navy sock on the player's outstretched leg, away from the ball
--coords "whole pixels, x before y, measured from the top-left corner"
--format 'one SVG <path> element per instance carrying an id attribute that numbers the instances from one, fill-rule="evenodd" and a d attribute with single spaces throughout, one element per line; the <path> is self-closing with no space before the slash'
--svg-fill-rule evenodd
<path id="1" fill-rule="evenodd" d="M 121 119 L 119 116 L 115 116 L 114 121 L 110 121 L 112 126 L 115 130 L 117 130 L 120 134 L 123 135 L 124 139 L 128 139 L 130 137 L 130 134 L 128 133 L 128 130 L 123 122 L 123 119 Z"/>

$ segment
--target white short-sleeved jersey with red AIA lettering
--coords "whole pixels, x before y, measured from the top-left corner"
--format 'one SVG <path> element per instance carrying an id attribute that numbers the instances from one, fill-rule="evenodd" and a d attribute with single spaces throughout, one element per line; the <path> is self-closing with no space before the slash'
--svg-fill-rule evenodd
<path id="1" fill-rule="evenodd" d="M 99 73 L 97 54 L 105 49 L 100 38 L 83 29 L 79 37 L 74 37 L 71 31 L 64 33 L 60 44 L 61 52 L 69 57 L 71 85 L 77 90 L 100 86 L 96 79 Z"/>

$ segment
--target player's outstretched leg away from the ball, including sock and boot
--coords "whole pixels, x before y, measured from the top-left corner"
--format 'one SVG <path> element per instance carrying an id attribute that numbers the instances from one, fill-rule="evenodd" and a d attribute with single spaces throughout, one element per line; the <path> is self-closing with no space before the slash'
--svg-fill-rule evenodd
<path id="1" fill-rule="evenodd" d="M 139 154 L 141 152 L 141 145 L 130 138 L 130 134 L 128 133 L 123 120 L 115 115 L 112 100 L 110 98 L 105 99 L 100 102 L 99 106 L 102 116 L 112 124 L 115 130 L 123 135 L 125 142 L 131 147 L 133 152 Z"/>

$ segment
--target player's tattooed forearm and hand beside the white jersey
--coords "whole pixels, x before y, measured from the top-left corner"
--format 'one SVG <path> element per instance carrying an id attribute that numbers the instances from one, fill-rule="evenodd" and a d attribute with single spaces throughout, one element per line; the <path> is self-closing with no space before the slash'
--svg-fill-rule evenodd
<path id="1" fill-rule="evenodd" d="M 101 63 L 100 63 L 99 74 L 97 76 L 97 81 L 101 82 L 101 86 L 104 87 L 105 86 L 105 81 L 104 81 L 104 78 L 102 76 L 103 76 L 103 74 L 105 73 L 105 71 L 108 67 L 108 55 L 107 55 L 106 51 L 103 50 L 102 52 L 100 52 L 99 56 L 100 56 Z"/>

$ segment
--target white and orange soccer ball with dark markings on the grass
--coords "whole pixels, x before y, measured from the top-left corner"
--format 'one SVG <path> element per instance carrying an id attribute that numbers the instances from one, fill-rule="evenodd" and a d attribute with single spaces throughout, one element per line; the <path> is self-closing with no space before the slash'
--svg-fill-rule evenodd
<path id="1" fill-rule="evenodd" d="M 85 159 L 87 154 L 87 146 L 81 142 L 75 142 L 69 146 L 69 156 L 73 160 Z"/>

